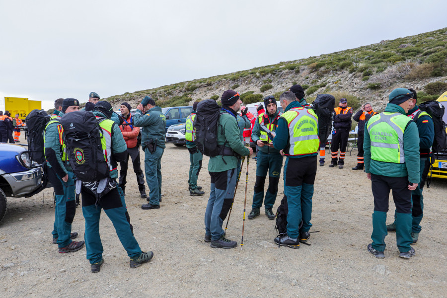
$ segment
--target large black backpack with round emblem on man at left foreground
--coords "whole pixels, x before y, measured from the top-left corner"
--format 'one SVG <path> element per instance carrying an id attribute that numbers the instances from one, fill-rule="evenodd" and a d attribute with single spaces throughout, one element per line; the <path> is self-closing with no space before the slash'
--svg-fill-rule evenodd
<path id="1" fill-rule="evenodd" d="M 65 114 L 60 120 L 64 142 L 76 180 L 99 181 L 109 177 L 109 166 L 102 150 L 102 130 L 95 115 L 87 111 Z"/>

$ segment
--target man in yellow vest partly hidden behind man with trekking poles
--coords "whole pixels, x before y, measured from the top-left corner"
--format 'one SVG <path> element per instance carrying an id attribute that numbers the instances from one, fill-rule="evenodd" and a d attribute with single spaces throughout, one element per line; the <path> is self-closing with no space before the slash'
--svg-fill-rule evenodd
<path id="1" fill-rule="evenodd" d="M 197 149 L 196 144 L 194 143 L 194 139 L 196 137 L 196 132 L 194 129 L 194 119 L 196 118 L 196 109 L 197 104 L 199 102 L 196 101 L 193 103 L 193 110 L 191 115 L 186 118 L 186 148 L 189 151 L 189 178 L 188 178 L 188 190 L 190 196 L 203 196 L 205 194 L 202 191 L 202 186 L 197 186 L 197 179 L 199 177 L 200 169 L 202 168 L 202 159 L 203 154 Z"/>

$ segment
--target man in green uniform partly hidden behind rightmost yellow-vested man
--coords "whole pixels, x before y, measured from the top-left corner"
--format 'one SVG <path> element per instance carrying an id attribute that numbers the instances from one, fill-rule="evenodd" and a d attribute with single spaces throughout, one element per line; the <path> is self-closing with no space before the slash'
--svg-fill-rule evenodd
<path id="1" fill-rule="evenodd" d="M 411 198 L 413 201 L 412 208 L 412 224 L 411 224 L 411 238 L 413 243 L 418 242 L 419 233 L 422 227 L 420 226 L 422 217 L 424 216 L 424 197 L 422 196 L 422 190 L 424 188 L 425 180 L 427 179 L 428 172 L 430 170 L 430 153 L 433 146 L 433 140 L 435 138 L 435 128 L 433 119 L 427 112 L 421 111 L 416 104 L 417 93 L 416 90 L 409 88 L 413 92 L 413 100 L 410 106 L 410 110 L 407 116 L 416 122 L 419 133 L 419 156 L 421 160 L 421 167 L 419 174 L 421 175 L 421 182 L 418 184 L 415 190 L 411 192 Z M 397 213 L 394 213 L 394 220 Z M 396 224 L 386 225 L 388 232 L 396 231 Z"/>

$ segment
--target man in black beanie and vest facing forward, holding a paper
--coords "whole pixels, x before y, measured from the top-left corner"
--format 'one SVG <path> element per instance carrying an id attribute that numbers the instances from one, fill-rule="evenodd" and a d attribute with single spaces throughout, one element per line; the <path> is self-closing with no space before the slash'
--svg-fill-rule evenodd
<path id="1" fill-rule="evenodd" d="M 270 95 L 264 98 L 265 113 L 258 115 L 253 131 L 251 132 L 251 139 L 259 147 L 259 152 L 256 159 L 256 182 L 253 192 L 252 210 L 248 215 L 248 219 L 252 220 L 260 214 L 262 201 L 264 200 L 265 215 L 269 220 L 275 219 L 275 214 L 272 211 L 273 205 L 278 194 L 278 182 L 280 179 L 281 168 L 283 167 L 283 156 L 278 149 L 273 147 L 273 134 L 268 134 L 263 128 L 274 132 L 278 127 L 278 120 L 281 114 L 278 111 L 278 106 L 274 96 Z M 264 184 L 265 178 L 269 173 L 269 188 L 265 193 L 264 198 Z"/>

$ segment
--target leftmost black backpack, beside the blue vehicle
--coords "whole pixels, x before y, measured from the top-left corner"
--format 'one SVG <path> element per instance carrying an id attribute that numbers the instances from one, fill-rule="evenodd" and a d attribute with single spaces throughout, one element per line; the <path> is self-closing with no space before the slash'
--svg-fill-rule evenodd
<path id="1" fill-rule="evenodd" d="M 45 162 L 44 130 L 50 120 L 44 110 L 32 110 L 25 118 L 29 158 L 37 163 Z"/>

